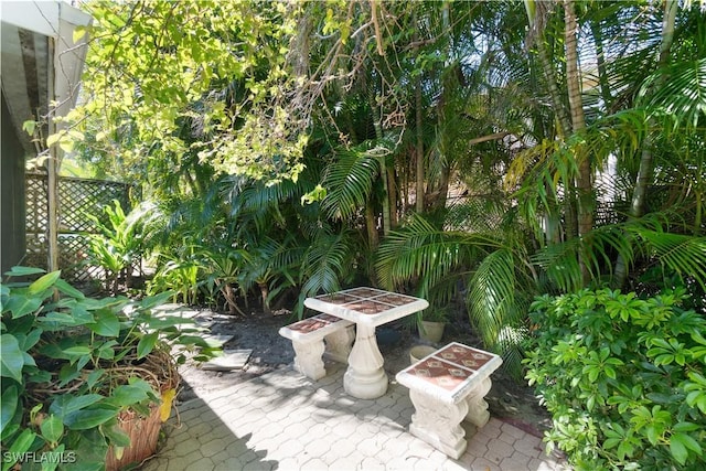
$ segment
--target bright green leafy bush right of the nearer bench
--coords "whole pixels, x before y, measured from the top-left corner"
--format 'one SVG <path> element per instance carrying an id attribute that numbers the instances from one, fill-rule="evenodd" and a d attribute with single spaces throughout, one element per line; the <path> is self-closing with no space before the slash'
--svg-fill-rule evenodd
<path id="1" fill-rule="evenodd" d="M 683 292 L 538 298 L 527 379 L 576 469 L 706 469 L 706 320 Z"/>

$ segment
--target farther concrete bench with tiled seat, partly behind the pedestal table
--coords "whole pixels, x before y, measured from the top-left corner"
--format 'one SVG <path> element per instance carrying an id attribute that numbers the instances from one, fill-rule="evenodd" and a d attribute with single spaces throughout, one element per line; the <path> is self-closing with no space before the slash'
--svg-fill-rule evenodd
<path id="1" fill-rule="evenodd" d="M 319 314 L 285 325 L 279 334 L 291 340 L 295 368 L 317 381 L 327 375 L 323 355 L 347 363 L 355 333 L 353 322 L 329 314 Z"/>

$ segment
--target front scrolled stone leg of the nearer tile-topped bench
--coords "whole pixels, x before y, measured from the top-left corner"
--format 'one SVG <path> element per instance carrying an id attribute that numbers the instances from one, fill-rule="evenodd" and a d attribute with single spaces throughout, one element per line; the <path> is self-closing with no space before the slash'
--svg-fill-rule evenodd
<path id="1" fill-rule="evenodd" d="M 414 389 L 409 390 L 409 398 L 415 406 L 409 432 L 458 460 L 468 446 L 466 430 L 461 427 L 468 414 L 468 400 L 443 403 Z"/>

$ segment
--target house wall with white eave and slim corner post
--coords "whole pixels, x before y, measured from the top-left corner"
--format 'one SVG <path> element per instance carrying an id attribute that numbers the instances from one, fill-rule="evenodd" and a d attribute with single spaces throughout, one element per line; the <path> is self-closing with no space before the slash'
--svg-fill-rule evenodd
<path id="1" fill-rule="evenodd" d="M 90 17 L 68 3 L 54 1 L 0 1 L 2 28 L 2 167 L 0 190 L 0 246 L 2 272 L 24 257 L 26 234 L 24 161 L 36 149 L 22 124 L 50 116 L 44 136 L 56 131 L 51 116 L 64 116 L 75 104 L 86 53 L 85 36 L 73 41 L 76 26 L 86 26 Z M 49 104 L 56 101 L 55 109 Z M 39 115 L 39 116 L 36 116 Z M 46 170 L 56 182 L 60 151 L 50 150 Z M 51 186 L 52 196 L 56 188 Z M 47 244 L 50 259 L 58 258 L 56 207 L 52 197 L 52 227 Z M 52 211 L 53 210 L 53 211 Z M 54 267 L 56 264 L 50 264 Z"/>

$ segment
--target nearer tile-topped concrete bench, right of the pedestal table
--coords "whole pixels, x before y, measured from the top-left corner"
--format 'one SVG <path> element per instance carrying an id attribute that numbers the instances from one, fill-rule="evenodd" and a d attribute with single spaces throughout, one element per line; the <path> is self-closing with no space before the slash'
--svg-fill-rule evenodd
<path id="1" fill-rule="evenodd" d="M 459 459 L 468 446 L 461 422 L 488 424 L 484 397 L 501 364 L 498 355 L 452 342 L 397 373 L 415 406 L 409 432 Z"/>

